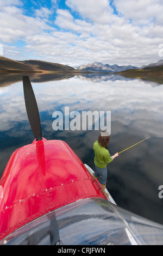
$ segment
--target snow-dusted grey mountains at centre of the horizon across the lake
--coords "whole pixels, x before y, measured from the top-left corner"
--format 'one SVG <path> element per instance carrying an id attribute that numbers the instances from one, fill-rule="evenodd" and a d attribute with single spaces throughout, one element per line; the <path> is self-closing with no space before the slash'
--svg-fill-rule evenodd
<path id="1" fill-rule="evenodd" d="M 82 65 L 77 68 L 78 70 L 82 71 L 91 71 L 91 72 L 121 72 L 127 69 L 137 69 L 136 66 L 118 66 L 118 65 L 109 65 L 109 64 L 102 64 L 100 62 L 94 62 L 92 64 Z"/>

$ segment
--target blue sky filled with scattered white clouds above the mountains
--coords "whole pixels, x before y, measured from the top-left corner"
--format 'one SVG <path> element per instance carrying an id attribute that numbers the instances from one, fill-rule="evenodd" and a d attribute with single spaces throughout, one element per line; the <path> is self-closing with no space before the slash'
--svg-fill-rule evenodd
<path id="1" fill-rule="evenodd" d="M 0 55 L 70 66 L 162 57 L 162 0 L 1 0 Z"/>

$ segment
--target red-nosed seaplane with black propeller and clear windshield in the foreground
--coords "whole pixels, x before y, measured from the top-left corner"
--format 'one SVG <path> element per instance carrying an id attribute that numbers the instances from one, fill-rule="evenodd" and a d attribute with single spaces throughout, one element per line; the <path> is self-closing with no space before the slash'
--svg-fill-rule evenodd
<path id="1" fill-rule="evenodd" d="M 12 153 L 0 180 L 0 245 L 162 245 L 163 225 L 122 209 L 105 188 L 106 198 L 66 142 L 42 137 L 28 76 L 23 90 L 34 141 Z"/>

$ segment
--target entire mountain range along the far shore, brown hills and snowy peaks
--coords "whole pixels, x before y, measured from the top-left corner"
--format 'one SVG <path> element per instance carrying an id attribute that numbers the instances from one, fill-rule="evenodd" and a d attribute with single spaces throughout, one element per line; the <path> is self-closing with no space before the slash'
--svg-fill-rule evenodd
<path id="1" fill-rule="evenodd" d="M 100 62 L 94 62 L 92 64 L 82 65 L 74 69 L 71 66 L 62 65 L 58 63 L 44 62 L 41 60 L 24 60 L 17 61 L 8 59 L 0 56 L 0 72 L 52 72 L 52 73 L 87 73 L 87 72 L 98 72 L 98 73 L 118 73 L 126 71 L 135 71 L 137 70 L 146 70 L 151 68 L 158 68 L 163 66 L 163 59 L 160 59 L 156 63 L 151 63 L 147 66 L 143 65 L 141 68 L 136 66 L 118 66 L 118 65 L 109 65 L 102 64 Z"/>

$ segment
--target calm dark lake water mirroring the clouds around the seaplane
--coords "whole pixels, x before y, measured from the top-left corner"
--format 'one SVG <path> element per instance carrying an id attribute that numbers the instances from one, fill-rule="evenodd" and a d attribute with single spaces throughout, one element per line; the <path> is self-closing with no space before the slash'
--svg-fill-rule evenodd
<path id="1" fill-rule="evenodd" d="M 0 176 L 17 148 L 33 142 L 24 105 L 22 75 L 0 77 Z M 64 140 L 94 169 L 93 142 L 99 131 L 54 131 L 54 111 L 111 111 L 110 154 L 106 187 L 117 205 L 163 224 L 163 84 L 117 75 L 69 77 L 29 74 L 40 111 L 42 136 Z"/>

